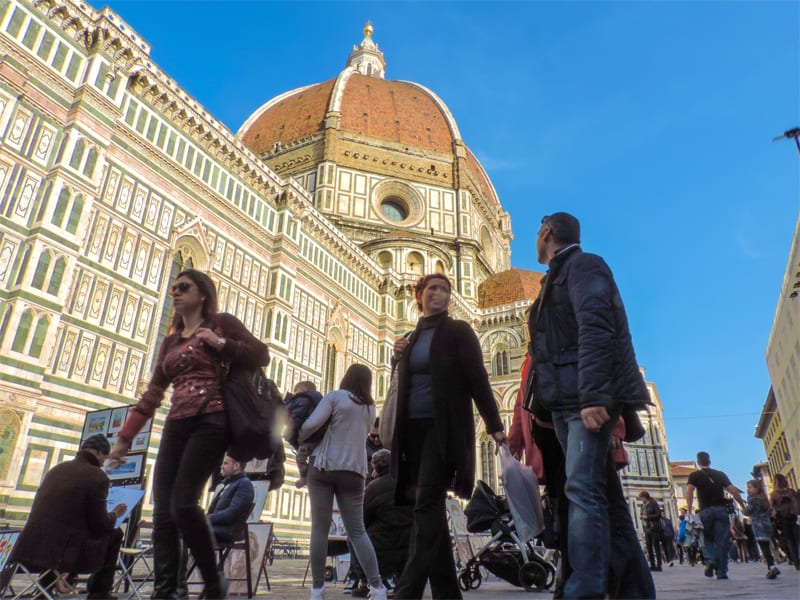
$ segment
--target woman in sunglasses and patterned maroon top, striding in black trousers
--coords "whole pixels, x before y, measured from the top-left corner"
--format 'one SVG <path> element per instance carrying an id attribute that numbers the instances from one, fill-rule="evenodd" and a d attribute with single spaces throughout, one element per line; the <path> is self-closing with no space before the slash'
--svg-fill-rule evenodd
<path id="1" fill-rule="evenodd" d="M 223 363 L 257 369 L 269 362 L 269 352 L 239 319 L 217 312 L 217 290 L 205 273 L 181 271 L 170 294 L 175 310 L 171 332 L 161 342 L 147 389 L 129 411 L 111 458 L 124 460 L 131 440 L 172 385 L 153 475 L 153 597 L 186 593 L 183 542 L 203 577 L 205 597 L 224 598 L 227 583 L 217 569 L 211 529 L 198 504 L 230 441 L 219 372 Z"/>

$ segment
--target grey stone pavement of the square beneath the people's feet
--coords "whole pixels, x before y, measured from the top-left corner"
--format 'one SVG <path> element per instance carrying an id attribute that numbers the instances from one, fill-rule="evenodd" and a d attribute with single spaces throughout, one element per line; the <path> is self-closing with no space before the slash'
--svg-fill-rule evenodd
<path id="1" fill-rule="evenodd" d="M 275 600 L 307 600 L 309 597 L 310 579 L 303 586 L 307 558 L 276 559 L 268 567 L 271 590 L 267 590 L 265 582 L 259 582 L 257 597 Z M 786 564 L 779 565 L 781 575 L 775 580 L 767 580 L 766 569 L 759 563 L 731 564 L 728 572 L 730 579 L 718 581 L 703 576 L 703 567 L 690 567 L 675 564 L 665 567 L 663 572 L 653 573 L 656 583 L 657 597 L 660 600 L 710 600 L 710 599 L 753 599 L 753 600 L 800 600 L 800 571 Z M 194 586 L 193 596 L 199 592 Z M 145 586 L 142 597 L 149 598 L 151 586 Z M 344 584 L 328 582 L 326 584 L 327 600 L 349 600 L 350 596 L 343 592 Z M 511 600 L 512 598 L 529 598 L 545 600 L 552 596 L 551 590 L 543 592 L 525 592 L 510 583 L 489 576 L 477 590 L 464 593 L 464 600 Z M 122 593 L 120 599 L 126 596 Z M 242 596 L 246 597 L 246 596 Z M 60 596 L 61 599 L 78 599 L 78 595 Z M 425 598 L 430 598 L 426 592 Z"/>

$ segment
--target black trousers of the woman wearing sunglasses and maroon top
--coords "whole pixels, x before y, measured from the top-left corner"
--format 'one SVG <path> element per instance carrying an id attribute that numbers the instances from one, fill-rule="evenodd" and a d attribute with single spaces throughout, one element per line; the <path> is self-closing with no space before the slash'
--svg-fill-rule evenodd
<path id="1" fill-rule="evenodd" d="M 208 597 L 219 594 L 214 538 L 198 502 L 228 447 L 224 413 L 168 420 L 153 476 L 154 598 L 177 596 L 181 538 L 194 557 Z"/>

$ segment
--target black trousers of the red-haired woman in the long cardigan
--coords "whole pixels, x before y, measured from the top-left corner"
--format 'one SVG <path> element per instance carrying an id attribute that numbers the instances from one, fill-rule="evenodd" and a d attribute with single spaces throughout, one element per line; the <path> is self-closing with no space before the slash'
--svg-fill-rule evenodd
<path id="1" fill-rule="evenodd" d="M 461 599 L 447 526 L 445 499 L 455 473 L 439 452 L 432 419 L 408 423 L 403 440 L 406 468 L 414 487 L 414 519 L 408 561 L 395 589 L 395 598 L 422 598 L 430 581 L 433 598 Z"/>

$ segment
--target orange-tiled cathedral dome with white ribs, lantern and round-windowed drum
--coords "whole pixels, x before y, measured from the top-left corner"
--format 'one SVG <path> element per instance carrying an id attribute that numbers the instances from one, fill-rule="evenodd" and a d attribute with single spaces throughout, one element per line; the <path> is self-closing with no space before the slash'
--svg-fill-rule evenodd
<path id="1" fill-rule="evenodd" d="M 380 265 L 446 270 L 474 298 L 509 267 L 509 215 L 447 105 L 385 69 L 368 24 L 336 77 L 268 100 L 237 137 Z"/>

